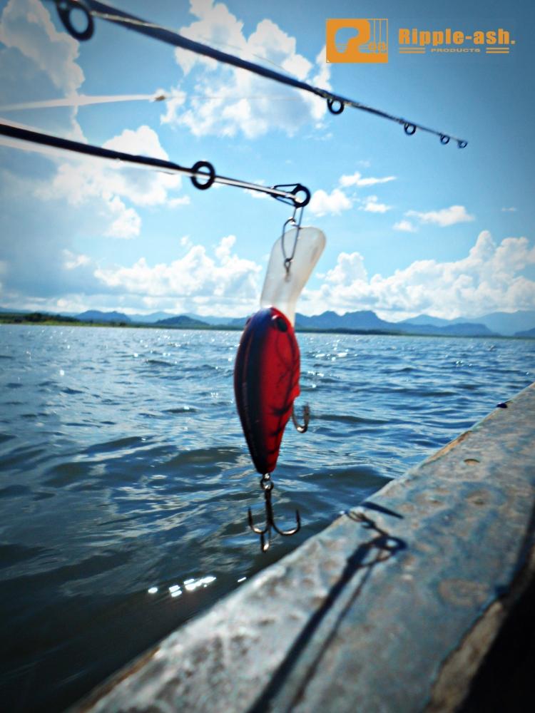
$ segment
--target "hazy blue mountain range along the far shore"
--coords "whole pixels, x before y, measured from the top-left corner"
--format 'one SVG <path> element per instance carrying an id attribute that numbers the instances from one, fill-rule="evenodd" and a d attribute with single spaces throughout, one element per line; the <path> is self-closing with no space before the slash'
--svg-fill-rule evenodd
<path id="1" fill-rule="evenodd" d="M 29 310 L 5 309 L 0 312 L 11 314 L 28 314 Z M 113 322 L 116 324 L 152 324 L 158 327 L 175 327 L 182 329 L 209 329 L 210 327 L 242 328 L 247 317 L 199 317 L 197 314 L 173 315 L 168 312 L 153 312 L 152 314 L 124 314 L 123 312 L 101 312 L 90 309 L 80 314 L 67 313 L 63 317 L 74 317 L 82 322 Z M 531 337 L 535 339 L 535 310 L 518 312 L 491 312 L 476 319 L 457 317 L 457 319 L 440 319 L 428 314 L 419 314 L 402 322 L 387 322 L 377 317 L 375 312 L 360 310 L 359 312 L 322 312 L 312 317 L 297 313 L 296 329 L 318 329 L 357 332 L 387 332 L 389 334 L 429 334 L 459 337 Z"/>

